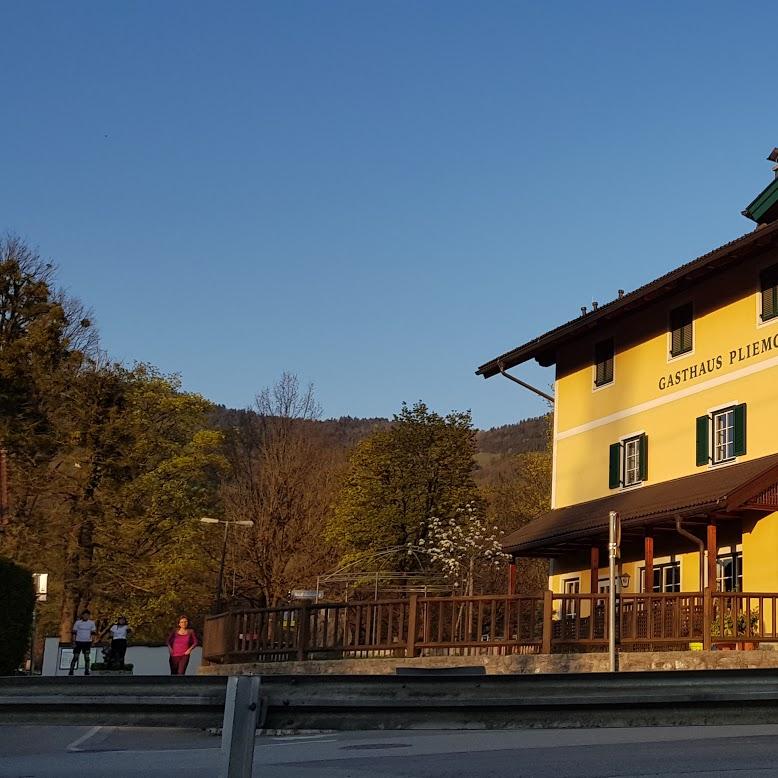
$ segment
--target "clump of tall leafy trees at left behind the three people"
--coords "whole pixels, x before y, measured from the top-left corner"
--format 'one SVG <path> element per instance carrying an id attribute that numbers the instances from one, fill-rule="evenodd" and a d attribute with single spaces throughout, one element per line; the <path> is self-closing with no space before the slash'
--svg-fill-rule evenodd
<path id="1" fill-rule="evenodd" d="M 83 306 L 16 238 L 0 243 L 0 440 L 11 522 L 0 548 L 49 572 L 44 630 L 85 607 L 127 611 L 136 634 L 200 590 L 210 564 L 194 524 L 217 501 L 221 436 L 210 404 L 146 365 L 100 355 Z M 59 606 L 55 613 L 56 605 Z"/>

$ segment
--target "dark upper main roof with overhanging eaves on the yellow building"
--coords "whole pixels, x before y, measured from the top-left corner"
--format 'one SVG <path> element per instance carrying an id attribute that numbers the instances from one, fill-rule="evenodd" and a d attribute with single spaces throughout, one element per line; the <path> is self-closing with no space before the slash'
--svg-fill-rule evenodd
<path id="1" fill-rule="evenodd" d="M 610 326 L 615 320 L 649 305 L 658 297 L 674 293 L 684 286 L 696 283 L 701 278 L 742 259 L 746 254 L 771 245 L 777 239 L 778 221 L 775 221 L 671 270 L 634 292 L 601 305 L 594 311 L 578 316 L 566 324 L 549 330 L 511 351 L 485 362 L 476 370 L 476 375 L 491 378 L 500 372 L 500 367 L 507 370 L 529 359 L 537 359 L 544 366 L 553 365 L 556 362 L 556 349 L 564 343 L 578 338 L 583 333 L 590 332 L 598 326 Z"/>

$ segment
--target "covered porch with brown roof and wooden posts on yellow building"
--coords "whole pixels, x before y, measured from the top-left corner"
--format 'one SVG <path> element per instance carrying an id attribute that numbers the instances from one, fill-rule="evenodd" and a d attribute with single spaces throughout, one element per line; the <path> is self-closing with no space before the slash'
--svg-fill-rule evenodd
<path id="1" fill-rule="evenodd" d="M 572 645 L 607 641 L 610 511 L 622 527 L 623 649 L 775 640 L 778 455 L 552 510 L 506 537 L 514 560 L 550 559 L 553 630 Z"/>

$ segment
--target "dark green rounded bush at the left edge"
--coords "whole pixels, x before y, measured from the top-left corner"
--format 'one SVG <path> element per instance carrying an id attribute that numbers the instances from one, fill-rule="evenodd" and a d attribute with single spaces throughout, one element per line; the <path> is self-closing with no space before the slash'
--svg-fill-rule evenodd
<path id="1" fill-rule="evenodd" d="M 32 573 L 0 557 L 0 675 L 11 675 L 24 661 L 34 608 Z"/>

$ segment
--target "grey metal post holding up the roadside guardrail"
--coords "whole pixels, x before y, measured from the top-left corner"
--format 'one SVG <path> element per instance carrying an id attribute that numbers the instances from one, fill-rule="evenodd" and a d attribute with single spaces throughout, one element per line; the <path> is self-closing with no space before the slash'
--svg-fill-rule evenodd
<path id="1" fill-rule="evenodd" d="M 260 678 L 257 675 L 227 679 L 219 778 L 251 778 L 260 706 L 259 689 Z"/>

